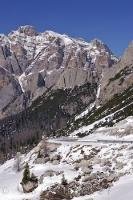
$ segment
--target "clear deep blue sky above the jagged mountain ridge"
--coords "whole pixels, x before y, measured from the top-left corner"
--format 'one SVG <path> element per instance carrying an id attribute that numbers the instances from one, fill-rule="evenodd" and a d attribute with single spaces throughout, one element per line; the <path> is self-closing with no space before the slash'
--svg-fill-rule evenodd
<path id="1" fill-rule="evenodd" d="M 0 0 L 0 32 L 30 24 L 86 40 L 121 55 L 133 39 L 133 0 Z"/>

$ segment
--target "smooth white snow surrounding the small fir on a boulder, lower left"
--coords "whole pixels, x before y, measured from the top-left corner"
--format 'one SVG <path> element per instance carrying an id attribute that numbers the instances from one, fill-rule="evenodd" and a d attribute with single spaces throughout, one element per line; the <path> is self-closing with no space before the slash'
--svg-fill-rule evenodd
<path id="1" fill-rule="evenodd" d="M 65 177 L 68 182 L 72 181 L 77 172 L 73 170 L 73 166 L 64 163 L 65 156 L 70 150 L 70 145 L 61 146 L 58 149 L 58 153 L 64 155 L 62 158 L 62 162 L 57 166 L 51 163 L 46 164 L 34 164 L 34 160 L 36 158 L 35 150 L 33 149 L 26 156 L 22 156 L 23 166 L 26 162 L 30 165 L 30 171 L 33 172 L 36 176 L 40 177 L 47 170 L 61 171 L 64 172 Z M 14 169 L 15 160 L 11 159 L 7 161 L 5 164 L 0 166 L 0 199 L 4 200 L 39 200 L 40 193 L 50 187 L 55 183 L 60 183 L 62 179 L 62 175 L 54 175 L 53 177 L 45 177 L 44 181 L 39 184 L 39 186 L 29 194 L 25 194 L 22 192 L 22 188 L 20 182 L 22 180 L 23 170 L 21 172 L 16 172 Z"/>

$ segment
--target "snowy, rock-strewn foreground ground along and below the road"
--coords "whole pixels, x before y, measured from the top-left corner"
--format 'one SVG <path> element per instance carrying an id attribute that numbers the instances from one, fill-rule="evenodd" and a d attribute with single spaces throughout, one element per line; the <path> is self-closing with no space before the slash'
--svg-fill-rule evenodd
<path id="1" fill-rule="evenodd" d="M 15 159 L 0 166 L 0 200 L 39 200 L 47 187 L 61 183 L 62 174 L 68 183 L 76 181 L 78 185 L 77 197 L 73 200 L 133 200 L 133 144 L 96 142 L 97 139 L 132 141 L 133 134 L 116 137 L 99 131 L 77 141 L 51 139 L 47 159 L 38 158 L 44 148 L 41 141 L 31 152 L 21 156 L 20 172 L 15 169 Z M 39 186 L 28 194 L 23 193 L 20 185 L 26 162 L 39 179 Z M 99 187 L 98 182 L 103 184 L 103 180 L 111 183 L 109 188 Z M 90 190 L 86 195 L 85 186 L 93 181 L 98 189 L 93 188 L 94 192 Z M 81 191 L 84 196 L 80 195 Z"/>

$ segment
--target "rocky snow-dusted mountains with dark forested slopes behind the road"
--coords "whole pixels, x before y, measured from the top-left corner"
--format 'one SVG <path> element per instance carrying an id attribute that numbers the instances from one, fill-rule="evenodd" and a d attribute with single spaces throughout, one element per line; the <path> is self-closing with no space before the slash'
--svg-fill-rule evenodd
<path id="1" fill-rule="evenodd" d="M 27 141 L 32 147 L 42 133 L 69 135 L 82 126 L 93 132 L 132 115 L 132 43 L 118 60 L 99 40 L 22 26 L 0 35 L 0 49 L 4 154 Z"/>

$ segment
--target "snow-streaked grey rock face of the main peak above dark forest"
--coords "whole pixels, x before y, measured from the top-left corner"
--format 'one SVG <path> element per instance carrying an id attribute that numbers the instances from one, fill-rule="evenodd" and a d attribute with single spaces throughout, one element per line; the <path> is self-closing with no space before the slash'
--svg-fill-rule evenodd
<path id="1" fill-rule="evenodd" d="M 117 61 L 96 39 L 86 42 L 52 31 L 38 33 L 28 25 L 7 36 L 0 34 L 0 66 L 6 74 L 0 72 L 0 93 L 6 94 L 5 103 L 0 102 L 1 115 L 14 107 L 14 102 L 22 107 L 18 104 L 23 104 L 27 92 L 33 101 L 51 87 L 74 88 L 87 82 L 98 85 L 103 71 Z"/>

